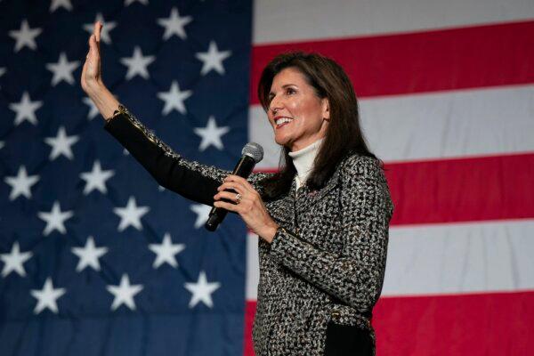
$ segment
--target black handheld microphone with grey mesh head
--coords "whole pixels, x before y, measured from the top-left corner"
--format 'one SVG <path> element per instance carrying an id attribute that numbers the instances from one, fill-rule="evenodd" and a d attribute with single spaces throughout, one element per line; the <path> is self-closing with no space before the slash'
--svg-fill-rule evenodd
<path id="1" fill-rule="evenodd" d="M 243 150 L 241 150 L 241 158 L 239 158 L 238 164 L 235 166 L 233 173 L 234 175 L 239 175 L 247 179 L 248 175 L 252 173 L 256 163 L 263 159 L 263 147 L 255 142 L 248 142 Z M 226 190 L 226 191 L 235 191 L 235 190 Z M 222 199 L 223 201 L 228 201 L 233 203 L 228 199 Z M 207 231 L 215 231 L 217 226 L 223 222 L 224 216 L 228 214 L 228 210 L 223 207 L 214 206 L 209 212 L 209 217 L 207 218 L 206 227 Z"/>

